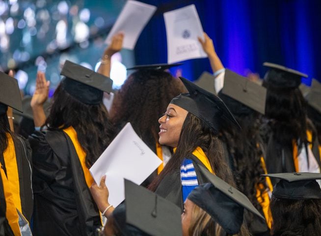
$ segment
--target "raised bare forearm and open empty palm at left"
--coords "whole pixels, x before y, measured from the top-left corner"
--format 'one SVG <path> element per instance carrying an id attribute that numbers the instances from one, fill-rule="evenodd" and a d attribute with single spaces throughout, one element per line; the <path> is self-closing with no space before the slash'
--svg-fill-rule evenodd
<path id="1" fill-rule="evenodd" d="M 46 114 L 43 104 L 48 99 L 50 81 L 46 80 L 45 73 L 38 71 L 36 79 L 36 90 L 31 99 L 33 122 L 35 127 L 41 127 L 46 122 Z"/>

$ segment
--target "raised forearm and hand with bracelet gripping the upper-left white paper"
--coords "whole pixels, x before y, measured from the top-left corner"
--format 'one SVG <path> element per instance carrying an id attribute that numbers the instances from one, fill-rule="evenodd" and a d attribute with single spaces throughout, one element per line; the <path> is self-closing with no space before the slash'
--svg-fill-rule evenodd
<path id="1" fill-rule="evenodd" d="M 101 64 L 98 68 L 98 73 L 110 77 L 110 67 L 111 67 L 111 56 L 119 52 L 123 47 L 123 33 L 116 33 L 112 39 L 111 43 L 107 46 L 101 59 Z"/>

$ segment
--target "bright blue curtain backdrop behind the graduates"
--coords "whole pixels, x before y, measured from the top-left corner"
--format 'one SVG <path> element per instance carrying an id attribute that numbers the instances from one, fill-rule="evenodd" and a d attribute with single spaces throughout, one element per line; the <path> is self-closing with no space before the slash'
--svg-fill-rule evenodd
<path id="1" fill-rule="evenodd" d="M 266 72 L 265 61 L 297 69 L 321 81 L 321 0 L 141 0 L 158 6 L 136 48 L 136 64 L 167 62 L 163 13 L 195 4 L 203 29 L 225 67 L 242 75 Z M 207 70 L 208 59 L 184 61 L 190 80 Z M 172 71 L 174 72 L 174 70 Z"/>

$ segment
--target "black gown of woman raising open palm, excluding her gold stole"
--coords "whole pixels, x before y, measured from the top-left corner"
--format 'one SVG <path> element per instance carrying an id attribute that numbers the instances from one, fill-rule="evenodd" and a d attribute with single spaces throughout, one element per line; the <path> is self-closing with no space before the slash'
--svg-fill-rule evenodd
<path id="1" fill-rule="evenodd" d="M 34 236 L 92 236 L 101 226 L 74 145 L 63 131 L 34 132 Z"/>

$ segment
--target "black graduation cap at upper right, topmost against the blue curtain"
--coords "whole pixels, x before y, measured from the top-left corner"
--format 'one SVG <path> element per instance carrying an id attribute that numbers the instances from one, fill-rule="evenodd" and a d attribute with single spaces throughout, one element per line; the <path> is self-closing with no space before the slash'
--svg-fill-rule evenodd
<path id="1" fill-rule="evenodd" d="M 301 77 L 308 78 L 308 75 L 282 65 L 270 62 L 264 62 L 263 65 L 269 67 L 264 81 L 275 87 L 297 88 L 301 84 Z"/>

